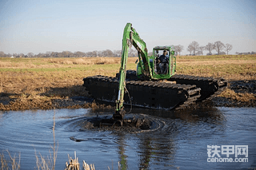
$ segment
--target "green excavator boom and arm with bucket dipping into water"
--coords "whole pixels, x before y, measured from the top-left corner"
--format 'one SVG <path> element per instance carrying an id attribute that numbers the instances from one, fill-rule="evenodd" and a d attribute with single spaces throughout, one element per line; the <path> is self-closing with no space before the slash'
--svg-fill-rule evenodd
<path id="1" fill-rule="evenodd" d="M 125 115 L 123 109 L 124 95 L 126 93 L 126 65 L 128 59 L 128 51 L 134 45 L 138 51 L 138 59 L 140 65 L 142 65 L 142 77 L 145 79 L 151 79 L 152 72 L 150 70 L 150 61 L 146 49 L 146 43 L 139 38 L 137 31 L 132 27 L 131 23 L 127 23 L 123 31 L 122 38 L 122 58 L 121 67 L 119 70 L 119 86 L 118 86 L 118 99 L 116 100 L 116 108 L 114 112 L 114 119 L 122 120 Z"/>

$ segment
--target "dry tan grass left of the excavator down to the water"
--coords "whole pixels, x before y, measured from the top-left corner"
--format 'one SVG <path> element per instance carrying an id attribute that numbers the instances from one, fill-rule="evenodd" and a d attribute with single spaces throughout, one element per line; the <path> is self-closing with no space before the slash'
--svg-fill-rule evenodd
<path id="1" fill-rule="evenodd" d="M 129 63 L 134 61 L 132 57 Z M 0 101 L 14 100 L 0 103 L 0 110 L 53 109 L 52 99 L 88 96 L 84 77 L 114 77 L 120 58 L 0 58 L 0 62 Z"/>

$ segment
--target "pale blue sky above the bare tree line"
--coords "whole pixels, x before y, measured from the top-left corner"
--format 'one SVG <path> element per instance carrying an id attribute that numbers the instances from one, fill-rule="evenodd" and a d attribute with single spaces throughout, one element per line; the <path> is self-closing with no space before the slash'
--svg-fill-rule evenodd
<path id="1" fill-rule="evenodd" d="M 255 52 L 255 11 L 254 0 L 0 0 L 0 51 L 118 50 L 130 22 L 150 51 L 183 45 L 186 54 L 190 42 L 221 41 L 230 53 Z"/>

